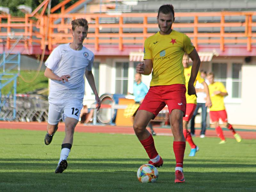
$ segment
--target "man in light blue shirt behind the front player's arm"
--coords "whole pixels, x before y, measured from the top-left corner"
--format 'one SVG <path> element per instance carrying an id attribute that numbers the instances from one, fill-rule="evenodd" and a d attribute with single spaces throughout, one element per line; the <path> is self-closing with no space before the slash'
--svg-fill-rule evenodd
<path id="1" fill-rule="evenodd" d="M 148 87 L 141 81 L 141 74 L 136 73 L 135 74 L 135 83 L 133 84 L 133 95 L 135 96 L 135 103 L 142 103 L 144 100 L 144 97 L 148 93 Z M 137 111 L 136 111 L 137 112 Z M 136 112 L 134 113 L 133 117 L 136 115 Z M 149 122 L 148 127 L 151 130 L 151 134 L 153 136 L 156 136 L 156 133 L 153 130 L 152 124 Z"/>

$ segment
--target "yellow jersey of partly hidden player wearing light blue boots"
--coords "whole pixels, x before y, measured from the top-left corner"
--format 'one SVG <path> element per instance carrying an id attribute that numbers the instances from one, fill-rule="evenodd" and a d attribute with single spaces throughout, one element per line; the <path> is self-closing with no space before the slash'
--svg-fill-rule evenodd
<path id="1" fill-rule="evenodd" d="M 186 91 L 186 100 L 187 100 L 187 103 L 196 104 L 196 95 L 188 95 L 188 81 L 189 81 L 189 78 L 191 76 L 191 68 L 192 68 L 192 66 L 184 68 L 184 75 L 185 75 L 186 89 L 187 89 L 187 91 Z M 196 75 L 196 80 L 194 82 L 194 87 L 196 86 L 196 81 L 198 81 L 199 83 L 204 82 L 204 79 L 200 76 L 199 71 Z"/>

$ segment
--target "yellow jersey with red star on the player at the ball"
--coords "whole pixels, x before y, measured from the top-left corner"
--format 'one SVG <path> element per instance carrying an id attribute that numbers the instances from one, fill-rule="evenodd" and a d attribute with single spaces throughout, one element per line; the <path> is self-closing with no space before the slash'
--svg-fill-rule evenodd
<path id="1" fill-rule="evenodd" d="M 144 43 L 144 60 L 150 59 L 153 64 L 150 86 L 185 84 L 182 58 L 184 52 L 194 50 L 188 36 L 172 30 L 169 35 L 157 32 L 148 37 Z"/>

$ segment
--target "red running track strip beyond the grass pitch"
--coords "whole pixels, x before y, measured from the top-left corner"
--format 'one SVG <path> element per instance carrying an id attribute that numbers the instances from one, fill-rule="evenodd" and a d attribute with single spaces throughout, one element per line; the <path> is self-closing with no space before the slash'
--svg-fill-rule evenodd
<path id="1" fill-rule="evenodd" d="M 24 130 L 39 130 L 46 131 L 47 123 L 37 122 L 8 122 L 0 121 L 0 129 L 24 129 Z M 65 124 L 60 123 L 58 131 L 64 131 Z M 77 124 L 76 132 L 88 132 L 88 133 L 115 133 L 115 134 L 134 134 L 132 127 L 111 126 L 111 125 L 84 125 Z M 154 131 L 157 135 L 172 136 L 171 128 L 158 128 L 155 127 Z M 197 131 L 197 130 L 196 130 Z M 256 132 L 253 131 L 237 131 L 243 139 L 256 139 Z M 230 131 L 223 131 L 226 138 L 234 138 Z M 199 131 L 196 132 L 196 136 L 199 136 Z M 217 137 L 215 130 L 207 130 L 207 137 Z"/>

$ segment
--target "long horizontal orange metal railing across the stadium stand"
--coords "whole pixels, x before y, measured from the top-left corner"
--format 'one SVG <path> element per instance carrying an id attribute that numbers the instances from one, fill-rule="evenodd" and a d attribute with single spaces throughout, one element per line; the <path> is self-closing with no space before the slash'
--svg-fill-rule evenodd
<path id="1" fill-rule="evenodd" d="M 49 17 L 47 40 L 44 38 L 47 30 L 46 16 L 35 15 L 36 22 L 28 14 L 25 18 L 0 15 L 0 36 L 7 37 L 6 46 L 9 48 L 15 39 L 11 39 L 7 34 L 16 29 L 15 36 L 25 37 L 22 40 L 25 48 L 28 45 L 41 44 L 42 49 L 44 45 L 48 45 L 48 49 L 52 50 L 53 45 L 72 40 L 71 20 L 86 18 L 89 21 L 89 33 L 84 43 L 94 44 L 96 50 L 99 50 L 101 44 L 118 44 L 119 49 L 123 50 L 126 44 L 142 46 L 148 36 L 158 31 L 156 15 L 157 13 L 122 13 L 121 15 L 54 13 Z M 200 44 L 218 44 L 223 51 L 226 45 L 236 44 L 247 45 L 247 50 L 251 51 L 252 45 L 256 45 L 256 21 L 253 20 L 256 18 L 256 12 L 177 12 L 175 17 L 173 28 L 178 31 L 188 30 L 185 33 L 196 47 Z M 3 19 L 7 22 L 4 23 Z M 4 41 L 4 38 L 0 38 L 1 41 Z"/>

